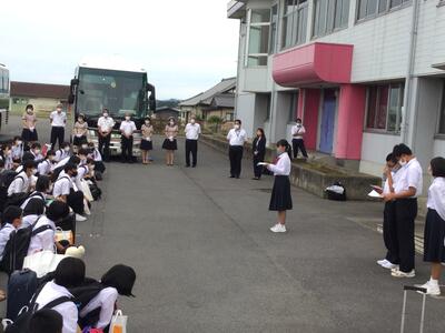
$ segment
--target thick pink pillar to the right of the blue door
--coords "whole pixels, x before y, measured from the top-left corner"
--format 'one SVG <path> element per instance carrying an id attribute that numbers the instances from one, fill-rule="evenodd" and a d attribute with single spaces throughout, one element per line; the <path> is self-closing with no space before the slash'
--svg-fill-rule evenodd
<path id="1" fill-rule="evenodd" d="M 359 84 L 342 84 L 335 149 L 337 159 L 360 160 L 365 108 L 366 88 Z"/>

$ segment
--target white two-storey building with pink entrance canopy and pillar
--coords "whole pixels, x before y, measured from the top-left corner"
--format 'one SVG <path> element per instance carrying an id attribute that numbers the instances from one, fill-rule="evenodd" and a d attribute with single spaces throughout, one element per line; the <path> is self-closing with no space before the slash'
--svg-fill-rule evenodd
<path id="1" fill-rule="evenodd" d="M 444 0 L 231 1 L 228 17 L 250 135 L 290 139 L 299 117 L 309 149 L 375 175 L 399 142 L 424 167 L 445 155 Z"/>

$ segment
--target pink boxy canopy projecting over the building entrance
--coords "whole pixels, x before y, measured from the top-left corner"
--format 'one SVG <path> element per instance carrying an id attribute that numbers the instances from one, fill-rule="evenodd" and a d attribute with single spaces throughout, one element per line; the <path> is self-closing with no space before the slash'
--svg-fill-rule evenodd
<path id="1" fill-rule="evenodd" d="M 349 83 L 354 46 L 315 42 L 274 56 L 273 78 L 283 87 Z"/>

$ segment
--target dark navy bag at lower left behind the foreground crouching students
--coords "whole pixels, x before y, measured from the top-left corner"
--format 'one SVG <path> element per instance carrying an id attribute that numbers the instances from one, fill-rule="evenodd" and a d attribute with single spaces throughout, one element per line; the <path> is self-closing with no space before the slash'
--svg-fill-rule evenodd
<path id="1" fill-rule="evenodd" d="M 30 270 L 16 271 L 8 281 L 7 317 L 14 321 L 28 305 L 38 286 L 37 274 Z"/>

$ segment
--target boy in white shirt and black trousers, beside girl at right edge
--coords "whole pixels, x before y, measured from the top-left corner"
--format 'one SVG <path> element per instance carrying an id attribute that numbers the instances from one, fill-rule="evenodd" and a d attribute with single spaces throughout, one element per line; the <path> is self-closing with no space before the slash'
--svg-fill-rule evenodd
<path id="1" fill-rule="evenodd" d="M 417 196 L 422 195 L 423 171 L 412 150 L 404 143 L 393 150 L 400 164 L 394 193 L 385 193 L 385 201 L 395 200 L 399 268 L 392 270 L 394 278 L 414 278 L 414 221 L 417 216 Z"/>

